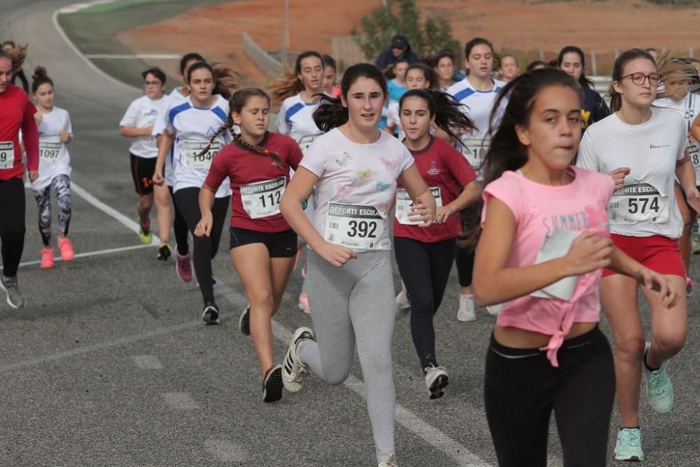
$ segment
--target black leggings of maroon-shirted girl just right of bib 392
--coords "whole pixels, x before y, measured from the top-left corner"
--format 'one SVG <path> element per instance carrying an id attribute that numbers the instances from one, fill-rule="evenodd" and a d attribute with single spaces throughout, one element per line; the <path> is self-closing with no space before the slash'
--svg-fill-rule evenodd
<path id="1" fill-rule="evenodd" d="M 454 256 L 454 238 L 436 243 L 394 237 L 396 263 L 411 302 L 411 335 L 421 369 L 437 366 L 433 316 L 440 307 Z"/>

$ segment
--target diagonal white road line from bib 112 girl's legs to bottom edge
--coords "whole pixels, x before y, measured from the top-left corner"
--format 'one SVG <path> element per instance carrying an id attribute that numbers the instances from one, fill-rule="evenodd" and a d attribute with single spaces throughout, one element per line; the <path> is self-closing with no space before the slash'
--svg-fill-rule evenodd
<path id="1" fill-rule="evenodd" d="M 220 283 L 217 283 L 220 284 Z M 223 298 L 228 300 L 235 309 L 243 309 L 248 303 L 245 295 L 237 292 L 234 288 L 221 284 L 221 290 L 224 292 Z M 285 348 L 292 339 L 293 332 L 283 326 L 281 323 L 272 320 L 272 332 L 276 340 L 281 342 Z M 358 394 L 362 398 L 365 397 L 365 384 L 353 375 L 349 375 L 343 383 L 348 389 Z M 440 429 L 427 424 L 416 414 L 396 403 L 396 421 L 407 429 L 416 437 L 426 441 L 429 445 L 440 450 L 443 454 L 449 456 L 456 463 L 454 465 L 460 467 L 491 467 L 491 464 L 486 463 L 479 456 L 471 452 L 465 446 L 451 438 L 447 433 Z"/>

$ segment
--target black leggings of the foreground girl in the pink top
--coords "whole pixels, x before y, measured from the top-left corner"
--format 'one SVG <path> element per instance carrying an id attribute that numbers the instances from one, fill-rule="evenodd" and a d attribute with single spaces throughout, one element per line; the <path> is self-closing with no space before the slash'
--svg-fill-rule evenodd
<path id="1" fill-rule="evenodd" d="M 604 467 L 615 370 L 595 328 L 563 343 L 559 368 L 539 349 L 512 349 L 491 337 L 486 354 L 486 420 L 500 467 L 546 467 L 554 409 L 565 467 Z"/>

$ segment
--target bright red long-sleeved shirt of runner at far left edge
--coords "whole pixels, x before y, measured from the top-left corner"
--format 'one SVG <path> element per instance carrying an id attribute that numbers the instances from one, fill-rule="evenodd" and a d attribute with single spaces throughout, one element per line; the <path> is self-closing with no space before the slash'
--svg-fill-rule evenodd
<path id="1" fill-rule="evenodd" d="M 21 179 L 25 172 L 20 149 L 20 130 L 27 151 L 27 169 L 38 169 L 39 133 L 34 113 L 36 107 L 22 89 L 8 84 L 5 91 L 0 92 L 0 180 L 15 177 Z"/>

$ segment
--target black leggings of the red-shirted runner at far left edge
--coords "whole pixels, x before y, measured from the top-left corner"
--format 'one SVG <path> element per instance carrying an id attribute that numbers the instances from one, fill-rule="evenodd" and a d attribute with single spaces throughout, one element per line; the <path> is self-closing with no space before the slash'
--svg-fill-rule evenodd
<path id="1" fill-rule="evenodd" d="M 26 230 L 22 179 L 0 180 L 0 251 L 5 277 L 17 275 L 25 249 Z"/>

